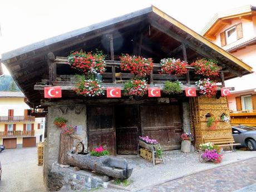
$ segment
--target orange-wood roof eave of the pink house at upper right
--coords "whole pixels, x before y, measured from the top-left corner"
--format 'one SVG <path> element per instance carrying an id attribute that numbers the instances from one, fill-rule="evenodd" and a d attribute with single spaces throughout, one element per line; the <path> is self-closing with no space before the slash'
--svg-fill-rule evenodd
<path id="1" fill-rule="evenodd" d="M 232 19 L 248 19 L 252 21 L 252 17 L 256 15 L 256 7 L 251 5 L 238 7 L 230 11 L 215 14 L 208 24 L 201 31 L 201 35 L 209 40 L 215 40 L 218 32 L 227 24 L 231 24 Z"/>

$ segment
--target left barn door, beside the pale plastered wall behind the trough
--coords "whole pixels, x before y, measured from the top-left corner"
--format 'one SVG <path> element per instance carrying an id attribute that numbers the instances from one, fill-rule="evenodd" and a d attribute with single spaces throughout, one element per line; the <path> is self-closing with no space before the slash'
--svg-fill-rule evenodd
<path id="1" fill-rule="evenodd" d="M 90 150 L 103 146 L 116 154 L 114 106 L 87 107 L 88 147 Z"/>

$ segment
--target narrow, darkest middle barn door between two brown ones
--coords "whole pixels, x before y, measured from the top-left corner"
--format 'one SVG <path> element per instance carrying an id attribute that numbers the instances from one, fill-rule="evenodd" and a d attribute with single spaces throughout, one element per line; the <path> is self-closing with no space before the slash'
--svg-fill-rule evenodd
<path id="1" fill-rule="evenodd" d="M 138 112 L 137 105 L 115 107 L 117 154 L 137 154 Z"/>

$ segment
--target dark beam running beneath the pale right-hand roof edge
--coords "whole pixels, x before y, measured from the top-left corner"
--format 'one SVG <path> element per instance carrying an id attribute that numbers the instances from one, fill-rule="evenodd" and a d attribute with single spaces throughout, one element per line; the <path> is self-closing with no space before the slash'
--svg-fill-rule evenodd
<path id="1" fill-rule="evenodd" d="M 174 33 L 173 31 L 171 31 L 169 28 L 164 27 L 163 25 L 160 25 L 159 23 L 156 23 L 155 21 L 152 21 L 152 26 L 157 28 L 159 31 L 165 33 L 166 35 L 174 38 L 176 41 L 179 41 L 181 43 L 185 43 L 186 45 L 188 45 L 191 50 L 194 50 L 195 52 L 198 52 L 200 55 L 206 57 L 206 58 L 212 58 L 215 59 L 212 55 L 210 55 L 209 53 L 207 53 L 206 51 L 202 50 L 200 47 L 194 45 L 193 43 L 189 42 L 188 40 L 185 40 L 183 37 L 177 35 L 176 33 Z M 217 60 L 220 64 L 222 63 L 220 60 Z M 227 66 L 229 71 L 232 72 L 234 75 L 241 77 L 243 76 L 243 74 L 239 71 L 235 71 L 233 70 L 231 67 Z"/>

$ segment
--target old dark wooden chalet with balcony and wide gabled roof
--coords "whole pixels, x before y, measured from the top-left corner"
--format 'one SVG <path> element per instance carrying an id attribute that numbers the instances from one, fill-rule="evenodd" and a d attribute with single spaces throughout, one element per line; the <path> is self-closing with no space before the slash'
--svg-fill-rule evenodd
<path id="1" fill-rule="evenodd" d="M 191 131 L 198 145 L 204 142 L 204 135 L 209 135 L 203 131 L 205 114 L 219 116 L 222 111 L 218 110 L 224 109 L 229 115 L 227 100 L 225 97 L 219 99 L 220 96 L 205 100 L 203 97 L 191 99 L 185 93 L 161 93 L 158 98 L 144 96 L 133 100 L 127 96 L 120 99 L 77 96 L 72 90 L 77 71 L 67 65 L 67 56 L 71 51 L 95 49 L 108 56 L 107 70 L 102 75 L 105 89 L 120 87 L 122 90 L 124 82 L 132 77 L 131 73 L 120 71 L 119 56 L 122 53 L 152 58 L 154 70 L 149 84 L 161 89 L 166 80 L 181 81 L 183 90 L 196 87 L 198 80 L 192 68 L 184 76 L 160 75 L 160 64 L 157 63 L 162 58 L 181 58 L 188 63 L 196 58 L 214 58 L 223 68 L 219 89 L 225 86 L 224 80 L 252 72 L 243 61 L 154 6 L 4 53 L 2 62 L 26 95 L 28 104 L 48 113 L 45 135 L 48 170 L 58 159 L 60 131 L 53 125 L 57 116 L 78 126 L 77 134 L 88 149 L 102 145 L 115 155 L 137 154 L 140 135 L 158 140 L 164 150 L 173 150 L 180 149 L 181 132 Z M 45 99 L 43 90 L 47 86 L 61 86 L 62 98 Z M 214 112 L 216 110 L 218 113 Z M 223 137 L 232 137 L 230 124 L 223 127 Z M 213 135 L 221 137 L 222 132 Z"/>

